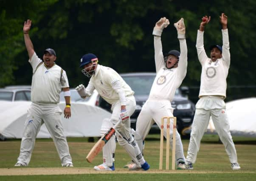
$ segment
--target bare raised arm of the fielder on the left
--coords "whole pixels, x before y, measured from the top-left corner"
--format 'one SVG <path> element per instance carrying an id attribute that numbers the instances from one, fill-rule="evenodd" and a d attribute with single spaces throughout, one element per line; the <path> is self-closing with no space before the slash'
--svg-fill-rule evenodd
<path id="1" fill-rule="evenodd" d="M 32 24 L 32 21 L 31 20 L 27 20 L 24 22 L 24 27 L 23 27 L 23 33 L 24 33 L 24 40 L 25 40 L 25 45 L 26 45 L 26 48 L 27 48 L 27 51 L 28 51 L 28 56 L 29 56 L 29 59 L 31 59 L 31 57 L 33 56 L 34 54 L 34 46 L 31 42 L 31 39 L 29 37 L 29 30 L 31 28 L 31 24 Z"/>

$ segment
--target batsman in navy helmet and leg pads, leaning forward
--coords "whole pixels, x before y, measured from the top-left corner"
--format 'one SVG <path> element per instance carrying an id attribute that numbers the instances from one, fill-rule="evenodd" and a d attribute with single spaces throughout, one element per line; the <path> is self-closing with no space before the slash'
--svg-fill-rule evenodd
<path id="1" fill-rule="evenodd" d="M 83 68 L 82 72 L 90 78 L 90 81 L 86 88 L 82 84 L 76 87 L 79 95 L 82 98 L 88 97 L 96 89 L 98 94 L 112 105 L 112 116 L 110 119 L 103 120 L 101 134 L 104 135 L 121 120 L 115 134 L 119 145 L 124 147 L 135 161 L 136 167 L 130 170 L 148 170 L 149 164 L 144 160 L 130 129 L 129 117 L 135 111 L 136 106 L 134 92 L 115 70 L 98 64 L 98 58 L 92 53 L 82 56 L 80 67 Z M 95 166 L 95 170 L 115 170 L 115 146 L 115 136 L 112 136 L 103 147 L 103 164 Z"/>

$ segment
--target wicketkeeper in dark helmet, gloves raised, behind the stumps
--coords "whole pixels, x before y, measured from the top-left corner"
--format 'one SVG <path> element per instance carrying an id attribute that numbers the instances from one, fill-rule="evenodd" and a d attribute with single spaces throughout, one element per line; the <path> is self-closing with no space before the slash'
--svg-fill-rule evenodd
<path id="1" fill-rule="evenodd" d="M 171 50 L 164 57 L 162 52 L 161 34 L 164 28 L 169 25 L 169 20 L 162 17 L 153 29 L 154 48 L 155 48 L 155 66 L 156 78 L 150 90 L 149 98 L 143 105 L 136 123 L 135 139 L 142 152 L 143 140 L 149 133 L 154 122 L 160 128 L 162 117 L 173 117 L 173 100 L 176 89 L 181 85 L 187 72 L 187 45 L 185 39 L 185 24 L 181 18 L 174 23 L 177 29 L 178 39 L 180 42 L 180 52 Z M 170 136 L 172 145 L 173 121 L 170 123 L 170 132 L 166 132 L 164 127 L 164 136 Z M 180 134 L 176 131 L 176 162 L 177 169 L 185 169 L 185 156 Z M 129 165 L 131 167 L 132 164 Z"/>

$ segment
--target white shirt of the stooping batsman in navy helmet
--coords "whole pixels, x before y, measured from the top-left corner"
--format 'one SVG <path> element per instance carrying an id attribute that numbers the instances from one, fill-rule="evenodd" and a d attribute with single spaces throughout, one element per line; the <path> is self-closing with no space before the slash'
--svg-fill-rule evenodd
<path id="1" fill-rule="evenodd" d="M 89 84 L 86 87 L 86 91 L 92 93 L 94 89 L 98 91 L 98 94 L 111 105 L 121 100 L 118 92 L 113 89 L 113 84 L 119 81 L 120 89 L 124 92 L 125 97 L 133 95 L 134 92 L 123 78 L 112 68 L 97 65 L 94 75 L 90 78 Z M 125 100 L 121 100 L 121 105 L 125 105 Z"/>

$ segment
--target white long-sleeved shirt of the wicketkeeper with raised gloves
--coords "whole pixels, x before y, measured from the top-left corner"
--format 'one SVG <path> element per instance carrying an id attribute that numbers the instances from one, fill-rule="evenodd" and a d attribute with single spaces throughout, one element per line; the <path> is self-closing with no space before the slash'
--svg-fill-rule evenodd
<path id="1" fill-rule="evenodd" d="M 188 57 L 186 39 L 180 41 L 180 59 L 177 68 L 167 69 L 163 59 L 160 36 L 154 36 L 156 78 L 150 90 L 149 98 L 173 100 L 176 89 L 186 76 Z"/>

